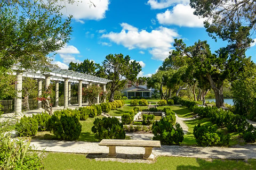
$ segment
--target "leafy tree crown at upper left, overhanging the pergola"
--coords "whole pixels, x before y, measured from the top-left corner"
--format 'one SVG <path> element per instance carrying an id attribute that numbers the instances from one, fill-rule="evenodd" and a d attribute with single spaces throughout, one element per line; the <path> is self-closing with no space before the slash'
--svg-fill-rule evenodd
<path id="1" fill-rule="evenodd" d="M 49 1 L 18 0 L 0 2 L 0 67 L 14 64 L 27 70 L 49 64 L 50 53 L 70 39 L 71 17 L 63 20 L 63 6 Z M 7 70 L 5 70 L 7 71 Z"/>

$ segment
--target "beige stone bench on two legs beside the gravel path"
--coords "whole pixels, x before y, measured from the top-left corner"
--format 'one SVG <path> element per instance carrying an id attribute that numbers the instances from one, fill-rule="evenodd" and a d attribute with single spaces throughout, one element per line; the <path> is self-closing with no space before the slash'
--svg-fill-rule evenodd
<path id="1" fill-rule="evenodd" d="M 109 157 L 116 157 L 116 146 L 121 147 L 144 147 L 145 154 L 143 159 L 154 160 L 152 154 L 152 148 L 161 147 L 161 143 L 158 140 L 119 140 L 119 139 L 102 139 L 99 146 L 109 147 Z"/>

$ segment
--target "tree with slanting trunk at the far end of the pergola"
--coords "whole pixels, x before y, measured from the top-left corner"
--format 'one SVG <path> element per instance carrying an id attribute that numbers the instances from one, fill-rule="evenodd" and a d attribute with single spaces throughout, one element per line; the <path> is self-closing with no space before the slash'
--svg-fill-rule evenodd
<path id="1" fill-rule="evenodd" d="M 103 70 L 109 82 L 110 98 L 114 101 L 114 93 L 124 87 L 127 80 L 134 81 L 141 71 L 141 65 L 136 61 L 131 61 L 130 56 L 123 54 L 109 54 L 102 62 Z"/>

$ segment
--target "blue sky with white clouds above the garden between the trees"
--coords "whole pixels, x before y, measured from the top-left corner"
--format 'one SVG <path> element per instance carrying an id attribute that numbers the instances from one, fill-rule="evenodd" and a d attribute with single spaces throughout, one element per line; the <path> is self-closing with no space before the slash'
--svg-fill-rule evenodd
<path id="1" fill-rule="evenodd" d="M 82 0 L 66 4 L 63 15 L 73 15 L 71 40 L 57 51 L 52 63 L 62 69 L 87 58 L 102 64 L 108 54 L 129 55 L 142 66 L 139 77 L 156 73 L 173 48 L 175 38 L 187 46 L 207 40 L 212 52 L 225 42 L 212 40 L 203 27 L 204 19 L 193 15 L 189 0 Z M 256 47 L 246 55 L 256 61 Z"/>

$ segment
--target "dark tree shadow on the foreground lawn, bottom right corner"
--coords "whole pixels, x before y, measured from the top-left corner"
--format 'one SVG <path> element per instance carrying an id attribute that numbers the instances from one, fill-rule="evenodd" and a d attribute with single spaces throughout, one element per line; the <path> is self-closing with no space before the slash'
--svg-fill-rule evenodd
<path id="1" fill-rule="evenodd" d="M 180 165 L 177 170 L 186 169 L 256 169 L 255 160 L 196 159 L 199 166 Z"/>

